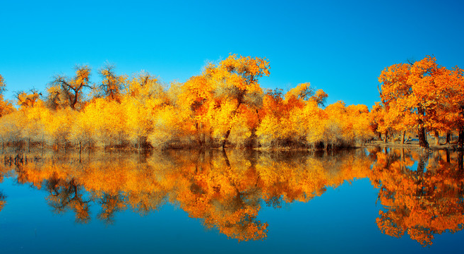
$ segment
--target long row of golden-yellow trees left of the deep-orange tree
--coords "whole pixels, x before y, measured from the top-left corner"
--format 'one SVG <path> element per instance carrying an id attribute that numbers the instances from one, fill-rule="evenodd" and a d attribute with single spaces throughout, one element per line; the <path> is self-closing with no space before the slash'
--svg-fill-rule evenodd
<path id="1" fill-rule="evenodd" d="M 111 65 L 101 68 L 100 81 L 92 84 L 90 67 L 76 66 L 72 78 L 54 78 L 46 103 L 38 92 L 18 94 L 23 109 L 37 107 L 47 117 L 26 117 L 21 126 L 33 129 L 16 131 L 22 138 L 40 132 L 42 138 L 37 142 L 42 145 L 80 149 L 218 147 L 226 143 L 315 147 L 328 140 L 332 145 L 353 145 L 369 137 L 362 118 L 367 109 L 359 109 L 364 110 L 359 114 L 346 111 L 344 105 L 338 111 L 332 111 L 334 105 L 323 109 L 328 95 L 323 90 L 314 92 L 309 83 L 297 85 L 285 99 L 279 90 L 263 92 L 258 78 L 269 71 L 265 58 L 231 54 L 208 64 L 201 75 L 168 87 L 146 72 L 131 78 L 117 75 Z M 93 88 L 90 95 L 83 93 L 83 87 Z M 350 126 L 350 121 L 358 123 Z"/>

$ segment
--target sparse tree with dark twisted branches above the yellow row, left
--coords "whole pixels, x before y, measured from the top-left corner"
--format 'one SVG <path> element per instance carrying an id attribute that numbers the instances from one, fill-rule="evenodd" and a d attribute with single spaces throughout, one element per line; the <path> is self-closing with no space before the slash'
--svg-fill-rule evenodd
<path id="1" fill-rule="evenodd" d="M 90 67 L 76 66 L 76 75 L 68 78 L 64 75 L 56 75 L 48 89 L 48 102 L 52 109 L 59 109 L 69 105 L 76 109 L 76 104 L 81 102 L 83 89 L 90 88 Z"/>

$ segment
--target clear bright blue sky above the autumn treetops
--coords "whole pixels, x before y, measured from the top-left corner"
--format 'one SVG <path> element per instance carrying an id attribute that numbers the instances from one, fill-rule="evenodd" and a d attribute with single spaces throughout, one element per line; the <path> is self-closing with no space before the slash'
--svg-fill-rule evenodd
<path id="1" fill-rule="evenodd" d="M 379 101 L 386 66 L 436 56 L 464 68 L 463 1 L 0 2 L 0 73 L 13 98 L 105 61 L 184 82 L 230 53 L 266 57 L 265 88 L 310 82 L 328 102 Z"/>

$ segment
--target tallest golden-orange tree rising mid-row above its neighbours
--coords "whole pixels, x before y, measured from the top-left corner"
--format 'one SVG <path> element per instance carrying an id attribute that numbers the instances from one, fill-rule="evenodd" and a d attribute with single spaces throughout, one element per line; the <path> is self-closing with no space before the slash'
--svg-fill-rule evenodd
<path id="1" fill-rule="evenodd" d="M 246 124 L 239 116 L 261 107 L 258 78 L 269 75 L 269 68 L 266 59 L 231 54 L 218 65 L 210 63 L 202 75 L 184 84 L 181 103 L 191 111 L 192 129 L 200 145 L 210 136 L 225 147 L 233 128 Z"/>

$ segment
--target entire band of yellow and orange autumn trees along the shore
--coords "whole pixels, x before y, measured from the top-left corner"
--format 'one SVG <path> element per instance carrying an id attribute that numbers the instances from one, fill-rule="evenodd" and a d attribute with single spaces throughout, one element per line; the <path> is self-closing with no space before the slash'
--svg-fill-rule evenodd
<path id="1" fill-rule="evenodd" d="M 55 75 L 46 91 L 16 92 L 14 101 L 2 96 L 7 77 L 0 75 L 2 147 L 334 150 L 382 138 L 428 148 L 429 135 L 436 146 L 464 145 L 463 70 L 439 66 L 433 56 L 381 71 L 381 102 L 371 110 L 326 105 L 326 92 L 310 83 L 285 93 L 263 89 L 259 79 L 270 75 L 270 63 L 260 57 L 230 54 L 185 83 L 162 83 L 145 71 L 119 75 L 110 64 L 97 71 L 97 83 L 90 66 L 75 71 Z"/>

